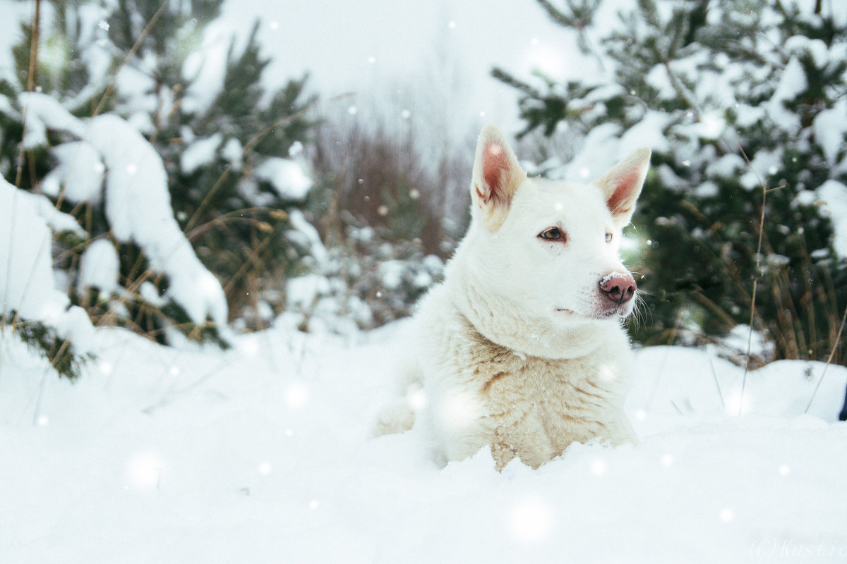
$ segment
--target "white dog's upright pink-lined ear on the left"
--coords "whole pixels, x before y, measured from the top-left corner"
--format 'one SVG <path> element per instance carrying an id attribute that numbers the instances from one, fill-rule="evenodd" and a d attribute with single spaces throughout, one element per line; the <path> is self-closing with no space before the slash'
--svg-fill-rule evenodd
<path id="1" fill-rule="evenodd" d="M 496 231 L 506 219 L 512 196 L 526 178 L 526 172 L 500 130 L 486 125 L 479 134 L 473 162 L 473 215 L 479 216 L 490 231 Z"/>

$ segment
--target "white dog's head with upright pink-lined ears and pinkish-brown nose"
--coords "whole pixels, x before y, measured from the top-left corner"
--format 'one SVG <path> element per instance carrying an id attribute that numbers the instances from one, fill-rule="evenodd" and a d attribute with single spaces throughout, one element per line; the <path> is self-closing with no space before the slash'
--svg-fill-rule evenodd
<path id="1" fill-rule="evenodd" d="M 500 131 L 483 129 L 462 249 L 474 291 L 557 326 L 629 315 L 637 286 L 618 249 L 649 163 L 640 149 L 592 183 L 528 178 Z"/>

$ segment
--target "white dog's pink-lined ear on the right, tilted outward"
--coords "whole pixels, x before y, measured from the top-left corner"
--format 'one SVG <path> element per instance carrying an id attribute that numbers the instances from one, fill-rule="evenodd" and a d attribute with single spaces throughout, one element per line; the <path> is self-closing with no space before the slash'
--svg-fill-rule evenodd
<path id="1" fill-rule="evenodd" d="M 612 211 L 615 226 L 628 225 L 635 211 L 635 200 L 641 194 L 647 169 L 650 167 L 650 149 L 643 148 L 630 153 L 594 183 L 606 198 L 606 207 Z"/>

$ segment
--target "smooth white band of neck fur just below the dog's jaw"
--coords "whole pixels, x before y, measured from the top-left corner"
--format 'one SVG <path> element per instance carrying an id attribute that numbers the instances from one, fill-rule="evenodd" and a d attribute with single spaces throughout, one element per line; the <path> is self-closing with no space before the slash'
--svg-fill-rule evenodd
<path id="1" fill-rule="evenodd" d="M 457 250 L 460 252 L 462 249 Z M 577 359 L 604 344 L 610 324 L 620 330 L 617 319 L 565 325 L 531 315 L 507 295 L 492 292 L 490 281 L 480 280 L 468 264 L 467 260 L 453 260 L 447 266 L 447 292 L 458 311 L 495 344 L 544 359 Z"/>

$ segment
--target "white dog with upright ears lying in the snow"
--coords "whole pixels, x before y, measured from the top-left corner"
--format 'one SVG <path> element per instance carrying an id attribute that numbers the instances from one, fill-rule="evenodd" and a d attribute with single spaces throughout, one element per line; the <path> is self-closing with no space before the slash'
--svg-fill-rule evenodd
<path id="1" fill-rule="evenodd" d="M 490 446 L 499 469 L 515 457 L 538 468 L 574 441 L 632 440 L 621 325 L 636 284 L 618 243 L 649 163 L 641 149 L 587 185 L 528 178 L 483 129 L 471 226 L 419 304 L 418 370 L 377 433 L 418 419 L 446 460 Z"/>

